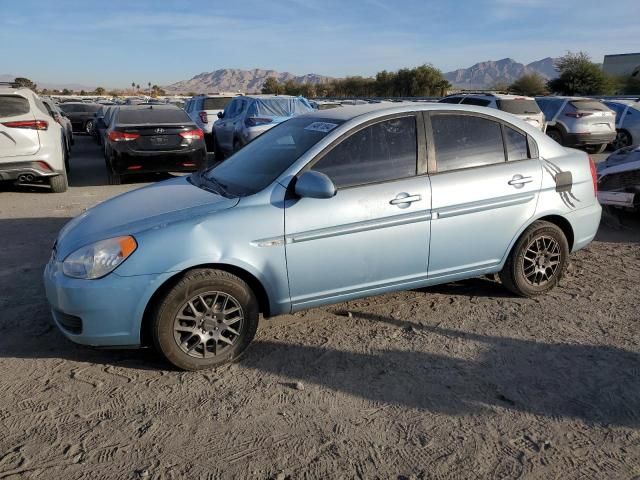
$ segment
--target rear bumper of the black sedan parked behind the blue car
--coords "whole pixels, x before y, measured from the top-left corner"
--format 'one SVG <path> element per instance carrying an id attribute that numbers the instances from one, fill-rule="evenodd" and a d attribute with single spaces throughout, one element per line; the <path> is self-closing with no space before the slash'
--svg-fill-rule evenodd
<path id="1" fill-rule="evenodd" d="M 179 152 L 113 152 L 114 173 L 193 172 L 206 167 L 204 148 Z"/>

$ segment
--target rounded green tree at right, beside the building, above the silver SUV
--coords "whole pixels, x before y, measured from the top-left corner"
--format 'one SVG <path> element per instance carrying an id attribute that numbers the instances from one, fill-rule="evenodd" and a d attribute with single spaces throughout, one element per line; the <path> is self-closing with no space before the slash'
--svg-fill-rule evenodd
<path id="1" fill-rule="evenodd" d="M 615 91 L 615 81 L 584 52 L 568 52 L 556 61 L 558 78 L 550 80 L 549 90 L 564 95 L 603 95 Z"/>

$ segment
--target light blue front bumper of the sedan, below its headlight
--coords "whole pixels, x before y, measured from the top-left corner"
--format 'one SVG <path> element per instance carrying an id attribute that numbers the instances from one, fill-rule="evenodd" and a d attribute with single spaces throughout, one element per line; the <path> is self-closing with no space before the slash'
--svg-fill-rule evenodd
<path id="1" fill-rule="evenodd" d="M 122 277 L 112 272 L 98 280 L 69 278 L 51 260 L 44 287 L 54 323 L 69 340 L 101 347 L 139 346 L 144 310 L 170 274 Z"/>

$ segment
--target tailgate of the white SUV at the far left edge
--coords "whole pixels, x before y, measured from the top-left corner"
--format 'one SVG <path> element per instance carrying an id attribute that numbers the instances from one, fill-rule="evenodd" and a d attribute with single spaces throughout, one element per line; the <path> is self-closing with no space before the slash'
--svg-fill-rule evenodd
<path id="1" fill-rule="evenodd" d="M 32 155 L 40 149 L 35 120 L 25 97 L 0 95 L 0 158 Z"/>

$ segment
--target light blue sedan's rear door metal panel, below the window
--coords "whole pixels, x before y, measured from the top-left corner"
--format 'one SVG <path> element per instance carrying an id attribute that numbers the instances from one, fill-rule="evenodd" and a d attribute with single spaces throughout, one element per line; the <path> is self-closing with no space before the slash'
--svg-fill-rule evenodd
<path id="1" fill-rule="evenodd" d="M 429 277 L 498 265 L 535 213 L 541 181 L 538 159 L 433 175 Z"/>

